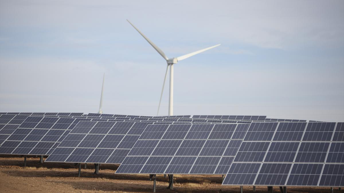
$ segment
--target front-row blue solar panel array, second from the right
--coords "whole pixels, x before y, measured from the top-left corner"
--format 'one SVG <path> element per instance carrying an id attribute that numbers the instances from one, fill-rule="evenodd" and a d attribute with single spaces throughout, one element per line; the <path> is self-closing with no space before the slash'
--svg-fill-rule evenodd
<path id="1" fill-rule="evenodd" d="M 116 173 L 225 174 L 248 126 L 149 125 Z"/>

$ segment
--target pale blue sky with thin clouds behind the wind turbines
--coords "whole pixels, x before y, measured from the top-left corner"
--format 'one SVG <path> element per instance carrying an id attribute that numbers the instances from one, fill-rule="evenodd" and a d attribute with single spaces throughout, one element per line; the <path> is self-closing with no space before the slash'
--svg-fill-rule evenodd
<path id="1" fill-rule="evenodd" d="M 0 111 L 344 121 L 344 1 L 0 0 Z M 169 78 L 169 77 L 167 77 Z M 159 115 L 168 114 L 166 80 Z"/>

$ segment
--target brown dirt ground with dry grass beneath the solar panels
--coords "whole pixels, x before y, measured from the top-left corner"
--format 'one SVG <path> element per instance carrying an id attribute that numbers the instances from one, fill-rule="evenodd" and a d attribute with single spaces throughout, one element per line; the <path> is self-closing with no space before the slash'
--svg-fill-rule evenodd
<path id="1" fill-rule="evenodd" d="M 74 164 L 43 163 L 39 158 L 0 157 L 0 192 L 152 192 L 153 181 L 148 175 L 115 174 L 118 165 L 102 164 L 99 174 L 94 165 L 84 165 L 81 177 Z M 239 186 L 222 186 L 221 175 L 174 175 L 174 189 L 166 189 L 168 178 L 157 175 L 157 192 L 239 192 Z M 279 187 L 273 187 L 280 192 Z M 244 186 L 244 192 L 252 192 Z M 256 192 L 267 192 L 266 186 L 257 186 Z M 288 187 L 287 192 L 330 192 L 330 188 Z M 336 188 L 334 192 L 338 191 Z"/>

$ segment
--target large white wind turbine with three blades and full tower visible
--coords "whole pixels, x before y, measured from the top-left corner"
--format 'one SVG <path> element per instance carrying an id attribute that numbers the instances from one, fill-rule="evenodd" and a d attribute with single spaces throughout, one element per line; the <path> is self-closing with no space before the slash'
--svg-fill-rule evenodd
<path id="1" fill-rule="evenodd" d="M 129 20 L 127 20 L 127 21 L 130 23 Z M 146 37 L 145 35 L 143 35 L 143 33 L 140 32 L 139 29 L 137 29 L 132 23 L 130 23 L 130 25 L 132 25 L 132 26 L 135 28 L 135 30 L 138 31 L 138 32 L 142 35 L 142 37 L 143 37 L 144 39 L 146 39 L 147 42 L 148 42 L 151 46 L 153 46 L 153 48 L 154 48 L 155 50 L 157 50 L 157 52 L 158 52 L 158 53 L 166 60 L 166 62 L 167 62 L 167 68 L 166 68 L 166 72 L 165 72 L 164 83 L 162 84 L 162 90 L 161 90 L 161 95 L 160 95 L 160 101 L 159 101 L 159 106 L 158 106 L 158 113 L 157 113 L 157 115 L 159 114 L 159 109 L 160 109 L 160 103 L 161 103 L 162 93 L 163 93 L 163 91 L 164 91 L 164 86 L 165 86 L 165 81 L 166 81 L 167 72 L 168 72 L 169 67 L 170 67 L 169 116 L 172 116 L 172 115 L 173 115 L 173 64 L 177 64 L 178 61 L 180 61 L 180 60 L 189 58 L 189 57 L 191 57 L 191 56 L 193 56 L 193 55 L 199 54 L 199 53 L 204 52 L 204 51 L 206 51 L 206 50 L 208 50 L 208 49 L 212 49 L 212 48 L 217 47 L 217 46 L 219 46 L 219 45 L 221 45 L 221 44 L 217 44 L 217 45 L 215 45 L 215 46 L 207 47 L 207 48 L 198 50 L 198 51 L 196 51 L 196 52 L 192 52 L 192 53 L 190 53 L 190 54 L 185 54 L 185 55 L 183 55 L 183 56 L 179 56 L 179 57 L 176 57 L 176 58 L 168 58 L 168 57 L 165 55 L 165 53 L 162 52 L 162 50 L 161 50 L 157 45 L 155 45 L 152 41 L 150 41 L 150 39 L 148 39 L 148 37 Z"/>

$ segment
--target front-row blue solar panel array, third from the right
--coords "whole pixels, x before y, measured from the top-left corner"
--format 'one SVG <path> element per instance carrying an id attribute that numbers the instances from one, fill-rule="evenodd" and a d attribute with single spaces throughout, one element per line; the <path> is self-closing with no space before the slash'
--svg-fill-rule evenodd
<path id="1" fill-rule="evenodd" d="M 153 122 L 80 121 L 46 162 L 122 163 Z"/>

